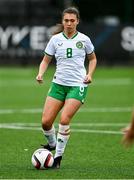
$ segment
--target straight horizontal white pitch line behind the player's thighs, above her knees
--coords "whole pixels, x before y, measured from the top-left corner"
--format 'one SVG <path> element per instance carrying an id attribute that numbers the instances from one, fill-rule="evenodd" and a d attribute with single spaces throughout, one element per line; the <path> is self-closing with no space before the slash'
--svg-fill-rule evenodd
<path id="1" fill-rule="evenodd" d="M 85 113 L 85 112 L 131 112 L 132 107 L 96 107 L 96 108 L 81 108 L 78 112 Z M 31 109 L 0 109 L 0 114 L 36 114 L 42 113 L 41 108 L 31 108 Z"/>

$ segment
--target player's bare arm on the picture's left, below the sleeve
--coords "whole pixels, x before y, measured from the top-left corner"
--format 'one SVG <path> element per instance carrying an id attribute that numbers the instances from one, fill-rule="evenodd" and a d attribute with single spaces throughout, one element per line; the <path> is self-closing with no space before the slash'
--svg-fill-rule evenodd
<path id="1" fill-rule="evenodd" d="M 43 83 L 43 75 L 46 72 L 49 63 L 51 62 L 51 59 L 52 59 L 52 56 L 49 56 L 47 54 L 45 54 L 45 56 L 43 57 L 39 66 L 38 75 L 36 76 L 36 80 L 38 83 Z"/>

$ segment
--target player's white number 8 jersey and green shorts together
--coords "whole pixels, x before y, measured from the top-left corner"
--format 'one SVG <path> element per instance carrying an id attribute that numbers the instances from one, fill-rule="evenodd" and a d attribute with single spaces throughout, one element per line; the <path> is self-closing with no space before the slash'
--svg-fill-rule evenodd
<path id="1" fill-rule="evenodd" d="M 86 54 L 93 51 L 90 38 L 80 32 L 72 38 L 68 38 L 64 32 L 52 36 L 45 53 L 55 56 L 56 72 L 48 95 L 59 100 L 75 98 L 83 103 L 88 86 L 83 83 L 86 76 L 84 62 Z"/>

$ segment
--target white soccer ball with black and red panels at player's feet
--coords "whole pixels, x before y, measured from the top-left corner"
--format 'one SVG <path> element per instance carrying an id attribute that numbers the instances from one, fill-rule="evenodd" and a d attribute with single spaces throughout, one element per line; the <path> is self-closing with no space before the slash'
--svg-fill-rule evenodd
<path id="1" fill-rule="evenodd" d="M 31 161 L 36 169 L 47 169 L 52 167 L 54 157 L 49 150 L 39 148 L 33 153 Z"/>

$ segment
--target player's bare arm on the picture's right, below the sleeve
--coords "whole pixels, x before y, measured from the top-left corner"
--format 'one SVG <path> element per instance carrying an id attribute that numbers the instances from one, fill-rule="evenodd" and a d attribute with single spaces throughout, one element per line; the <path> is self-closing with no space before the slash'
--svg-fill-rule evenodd
<path id="1" fill-rule="evenodd" d="M 96 58 L 95 52 L 88 54 L 87 59 L 89 61 L 89 64 L 88 64 L 88 69 L 87 69 L 87 75 L 84 79 L 85 84 L 92 82 L 92 76 L 93 76 L 93 73 L 95 71 L 96 64 L 97 64 L 97 58 Z"/>

